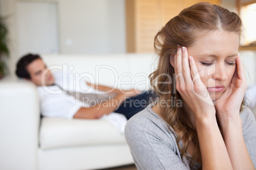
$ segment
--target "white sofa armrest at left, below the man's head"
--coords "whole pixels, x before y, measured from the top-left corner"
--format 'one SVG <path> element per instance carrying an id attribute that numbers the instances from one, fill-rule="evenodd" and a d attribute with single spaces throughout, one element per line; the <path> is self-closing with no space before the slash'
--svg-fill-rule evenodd
<path id="1" fill-rule="evenodd" d="M 39 98 L 31 82 L 0 80 L 0 169 L 38 169 Z"/>

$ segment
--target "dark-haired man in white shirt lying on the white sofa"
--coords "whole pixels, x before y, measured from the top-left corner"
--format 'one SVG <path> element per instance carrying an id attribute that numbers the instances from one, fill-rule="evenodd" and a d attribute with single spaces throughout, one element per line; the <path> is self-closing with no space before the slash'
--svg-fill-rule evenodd
<path id="1" fill-rule="evenodd" d="M 16 74 L 18 77 L 27 79 L 38 86 L 41 102 L 41 114 L 46 117 L 99 119 L 111 112 L 124 114 L 127 119 L 146 107 L 146 103 L 152 100 L 153 93 L 146 91 L 138 94 L 134 89 L 120 91 L 106 86 L 95 86 L 88 84 L 99 91 L 111 91 L 109 95 L 115 95 L 109 100 L 103 100 L 96 105 L 89 105 L 75 100 L 75 97 L 66 93 L 62 87 L 55 82 L 55 77 L 46 68 L 45 63 L 39 55 L 28 54 L 20 58 L 17 63 Z M 62 93 L 53 94 L 45 91 L 45 87 L 52 91 L 62 90 Z"/>

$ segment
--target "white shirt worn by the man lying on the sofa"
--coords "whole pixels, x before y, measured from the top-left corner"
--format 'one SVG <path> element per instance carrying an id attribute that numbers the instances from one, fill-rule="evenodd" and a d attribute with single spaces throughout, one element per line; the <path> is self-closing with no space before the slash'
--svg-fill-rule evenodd
<path id="1" fill-rule="evenodd" d="M 52 73 L 55 79 L 55 84 L 58 86 L 38 86 L 41 114 L 43 116 L 72 119 L 81 107 L 89 107 L 87 103 L 82 103 L 82 101 L 76 100 L 74 96 L 68 95 L 63 89 L 69 89 L 69 91 L 82 91 L 82 89 L 90 89 L 90 86 L 84 81 L 82 83 L 80 81 L 71 82 L 69 81 L 69 74 L 63 73 L 64 72 L 62 71 Z M 81 88 L 75 88 L 74 86 L 70 86 L 70 84 L 77 84 L 77 86 Z M 95 90 L 92 89 L 90 91 L 94 93 Z"/>

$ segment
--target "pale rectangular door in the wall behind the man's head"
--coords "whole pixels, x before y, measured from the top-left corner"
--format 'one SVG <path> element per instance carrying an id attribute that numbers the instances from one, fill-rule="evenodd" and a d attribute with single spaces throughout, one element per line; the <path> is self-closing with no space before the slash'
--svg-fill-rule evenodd
<path id="1" fill-rule="evenodd" d="M 56 3 L 17 2 L 18 56 L 58 53 Z"/>

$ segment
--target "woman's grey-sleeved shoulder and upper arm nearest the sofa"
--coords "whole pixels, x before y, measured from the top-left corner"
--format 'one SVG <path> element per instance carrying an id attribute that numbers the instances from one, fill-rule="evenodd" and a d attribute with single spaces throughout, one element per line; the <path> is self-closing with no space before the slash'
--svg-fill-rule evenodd
<path id="1" fill-rule="evenodd" d="M 138 169 L 187 169 L 167 122 L 150 105 L 129 119 L 125 139 Z M 171 127 L 170 127 L 171 128 Z"/>

